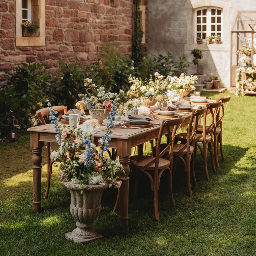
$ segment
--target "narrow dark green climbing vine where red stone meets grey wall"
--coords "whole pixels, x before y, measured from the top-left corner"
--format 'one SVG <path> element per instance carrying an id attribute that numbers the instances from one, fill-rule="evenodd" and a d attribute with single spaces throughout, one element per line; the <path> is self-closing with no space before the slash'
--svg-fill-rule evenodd
<path id="1" fill-rule="evenodd" d="M 134 23 L 132 36 L 132 60 L 135 67 L 140 67 L 143 61 L 142 51 L 142 28 L 141 28 L 141 13 L 140 0 L 134 0 Z"/>

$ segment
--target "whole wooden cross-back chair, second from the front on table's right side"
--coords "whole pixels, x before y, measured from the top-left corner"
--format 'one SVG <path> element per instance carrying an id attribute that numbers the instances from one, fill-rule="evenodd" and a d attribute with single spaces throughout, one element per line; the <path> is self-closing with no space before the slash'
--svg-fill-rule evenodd
<path id="1" fill-rule="evenodd" d="M 190 183 L 190 166 L 192 165 L 192 177 L 194 185 L 196 184 L 195 167 L 194 167 L 194 148 L 195 148 L 195 136 L 198 126 L 198 119 L 207 111 L 207 107 L 199 106 L 198 109 L 193 109 L 188 125 L 188 132 L 182 132 L 176 135 L 175 144 L 173 147 L 174 156 L 174 168 L 176 171 L 177 159 L 181 159 L 184 164 L 184 171 L 187 173 L 187 186 L 189 196 L 193 197 L 191 183 Z M 180 142 L 180 144 L 177 144 Z"/>

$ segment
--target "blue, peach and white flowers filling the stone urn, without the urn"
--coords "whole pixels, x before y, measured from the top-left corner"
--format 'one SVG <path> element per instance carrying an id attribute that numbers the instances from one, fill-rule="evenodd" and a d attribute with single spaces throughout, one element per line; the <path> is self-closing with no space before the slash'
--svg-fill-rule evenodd
<path id="1" fill-rule="evenodd" d="M 68 180 L 80 185 L 81 193 L 83 193 L 83 184 L 109 184 L 109 187 L 114 185 L 119 188 L 122 184 L 118 180 L 120 172 L 125 173 L 123 166 L 116 159 L 113 161 L 105 152 L 109 148 L 109 141 L 111 140 L 111 128 L 114 124 L 115 110 L 119 105 L 119 98 L 116 98 L 111 104 L 109 123 L 106 125 L 107 131 L 104 136 L 100 138 L 101 149 L 96 150 L 96 145 L 92 143 L 91 131 L 82 130 L 81 128 L 67 127 L 65 125 L 58 125 L 58 118 L 55 116 L 57 112 L 51 107 L 47 101 L 50 110 L 51 123 L 56 128 L 56 140 L 59 143 L 59 150 L 51 153 L 51 159 L 60 161 L 56 164 L 59 166 L 59 179 Z M 70 134 L 68 136 L 68 133 Z"/>

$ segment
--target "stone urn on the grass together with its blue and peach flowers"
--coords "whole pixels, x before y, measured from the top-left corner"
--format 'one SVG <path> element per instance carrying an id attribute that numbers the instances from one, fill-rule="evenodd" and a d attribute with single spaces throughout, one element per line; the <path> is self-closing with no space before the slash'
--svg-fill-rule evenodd
<path id="1" fill-rule="evenodd" d="M 108 155 L 109 135 L 112 133 L 112 121 L 115 110 L 119 103 L 118 98 L 111 104 L 109 124 L 107 131 L 99 140 L 101 147 L 97 151 L 92 142 L 92 131 L 89 129 L 76 128 L 73 126 L 58 125 L 56 111 L 48 102 L 51 123 L 54 124 L 56 140 L 59 142 L 59 150 L 52 151 L 51 164 L 59 161 L 59 179 L 64 187 L 70 190 L 71 205 L 70 212 L 76 219 L 77 228 L 65 234 L 66 239 L 79 243 L 98 239 L 102 235 L 93 228 L 93 221 L 101 212 L 101 197 L 103 190 L 122 185 L 119 174 L 125 174 L 123 166 L 117 159 L 112 160 Z M 88 126 L 89 127 L 89 126 Z"/>

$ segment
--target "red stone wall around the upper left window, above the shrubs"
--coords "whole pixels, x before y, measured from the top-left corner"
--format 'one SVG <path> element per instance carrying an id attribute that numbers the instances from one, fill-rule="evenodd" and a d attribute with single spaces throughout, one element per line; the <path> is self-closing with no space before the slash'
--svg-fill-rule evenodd
<path id="1" fill-rule="evenodd" d="M 22 62 L 58 67 L 59 59 L 89 63 L 104 41 L 131 54 L 133 0 L 46 0 L 45 46 L 15 44 L 16 0 L 0 2 L 0 80 Z"/>

